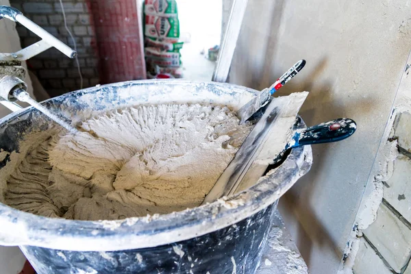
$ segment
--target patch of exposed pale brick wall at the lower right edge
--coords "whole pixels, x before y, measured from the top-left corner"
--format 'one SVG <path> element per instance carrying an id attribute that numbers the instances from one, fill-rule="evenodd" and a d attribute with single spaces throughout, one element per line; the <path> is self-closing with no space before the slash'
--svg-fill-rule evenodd
<path id="1" fill-rule="evenodd" d="M 388 144 L 397 144 L 393 173 L 386 180 L 377 218 L 360 232 L 354 274 L 411 274 L 411 114 L 395 118 Z M 375 269 L 377 272 L 370 272 Z"/>

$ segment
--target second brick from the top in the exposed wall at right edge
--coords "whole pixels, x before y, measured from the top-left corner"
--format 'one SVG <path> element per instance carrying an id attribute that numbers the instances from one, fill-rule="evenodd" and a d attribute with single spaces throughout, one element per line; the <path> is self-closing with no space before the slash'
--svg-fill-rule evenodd
<path id="1" fill-rule="evenodd" d="M 384 199 L 408 222 L 411 222 L 411 160 L 399 155 L 394 162 L 393 175 L 384 184 Z"/>

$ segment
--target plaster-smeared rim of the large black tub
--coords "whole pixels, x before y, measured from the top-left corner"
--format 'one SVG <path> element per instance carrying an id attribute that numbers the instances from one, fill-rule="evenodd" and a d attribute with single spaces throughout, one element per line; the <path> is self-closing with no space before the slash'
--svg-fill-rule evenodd
<path id="1" fill-rule="evenodd" d="M 128 81 L 86 88 L 43 101 L 60 103 L 66 97 L 97 92 L 101 88 L 123 88 L 130 85 L 212 85 L 258 92 L 227 83 L 195 82 L 179 79 Z M 0 125 L 31 112 L 25 108 L 3 119 Z M 301 120 L 301 127 L 305 124 Z M 230 197 L 170 214 L 132 217 L 114 221 L 77 221 L 49 218 L 16 210 L 0 203 L 0 245 L 31 245 L 72 251 L 116 251 L 156 247 L 195 238 L 234 225 L 271 205 L 305 175 L 312 164 L 310 146 L 292 149 L 284 163 L 258 184 Z"/>

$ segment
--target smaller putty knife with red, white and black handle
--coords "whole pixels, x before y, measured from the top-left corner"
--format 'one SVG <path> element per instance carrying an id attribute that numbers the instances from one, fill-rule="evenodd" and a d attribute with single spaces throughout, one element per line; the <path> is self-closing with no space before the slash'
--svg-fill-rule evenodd
<path id="1" fill-rule="evenodd" d="M 292 66 L 282 77 L 279 77 L 277 81 L 272 84 L 269 88 L 262 90 L 256 97 L 248 101 L 245 105 L 240 108 L 237 112 L 237 116 L 240 119 L 240 125 L 247 121 L 254 113 L 256 113 L 260 108 L 269 100 L 270 96 L 274 92 L 279 90 L 286 82 L 290 81 L 292 77 L 297 75 L 301 69 L 306 65 L 306 60 L 299 60 L 294 66 Z"/>

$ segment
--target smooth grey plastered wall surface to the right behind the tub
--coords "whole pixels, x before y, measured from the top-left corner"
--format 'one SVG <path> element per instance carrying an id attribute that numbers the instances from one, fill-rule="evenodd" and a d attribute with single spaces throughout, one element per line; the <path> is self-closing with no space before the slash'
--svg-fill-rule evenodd
<path id="1" fill-rule="evenodd" d="M 281 201 L 311 273 L 336 273 L 411 46 L 410 1 L 249 0 L 229 82 L 262 89 L 297 60 L 278 95 L 308 90 L 308 125 L 347 116 L 351 138 L 313 146 L 314 164 Z"/>

